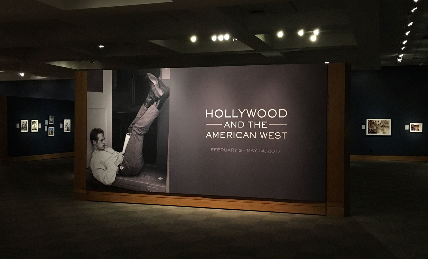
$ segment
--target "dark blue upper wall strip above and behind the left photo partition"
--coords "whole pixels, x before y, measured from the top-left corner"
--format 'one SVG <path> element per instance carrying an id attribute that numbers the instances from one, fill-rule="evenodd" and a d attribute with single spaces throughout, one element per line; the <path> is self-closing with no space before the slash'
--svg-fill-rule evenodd
<path id="1" fill-rule="evenodd" d="M 74 101 L 74 80 L 0 81 L 0 95 Z"/>

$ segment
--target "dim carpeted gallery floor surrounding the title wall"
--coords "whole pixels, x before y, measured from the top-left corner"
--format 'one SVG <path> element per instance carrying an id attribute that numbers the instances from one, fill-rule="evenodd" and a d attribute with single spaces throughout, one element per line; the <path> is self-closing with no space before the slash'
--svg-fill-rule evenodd
<path id="1" fill-rule="evenodd" d="M 426 162 L 351 162 L 345 218 L 73 201 L 73 158 L 0 176 L 0 258 L 428 258 Z"/>

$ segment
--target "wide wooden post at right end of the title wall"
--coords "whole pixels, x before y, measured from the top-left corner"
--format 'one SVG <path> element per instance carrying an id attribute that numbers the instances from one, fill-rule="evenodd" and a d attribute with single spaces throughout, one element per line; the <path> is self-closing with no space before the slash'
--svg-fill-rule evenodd
<path id="1" fill-rule="evenodd" d="M 328 64 L 326 214 L 349 214 L 349 65 Z"/>

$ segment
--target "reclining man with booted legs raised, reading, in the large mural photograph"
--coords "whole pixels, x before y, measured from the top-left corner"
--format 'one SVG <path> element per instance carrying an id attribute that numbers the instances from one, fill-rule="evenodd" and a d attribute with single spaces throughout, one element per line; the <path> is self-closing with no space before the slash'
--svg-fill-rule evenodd
<path id="1" fill-rule="evenodd" d="M 124 153 L 105 147 L 104 131 L 101 128 L 94 128 L 89 134 L 95 149 L 91 158 L 92 174 L 104 185 L 111 185 L 116 179 L 116 174 L 134 176 L 143 168 L 144 134 L 147 133 L 163 103 L 169 97 L 169 87 L 150 73 L 147 73 L 147 77 L 150 81 L 150 91 L 134 121 L 128 127 L 131 137 Z"/>

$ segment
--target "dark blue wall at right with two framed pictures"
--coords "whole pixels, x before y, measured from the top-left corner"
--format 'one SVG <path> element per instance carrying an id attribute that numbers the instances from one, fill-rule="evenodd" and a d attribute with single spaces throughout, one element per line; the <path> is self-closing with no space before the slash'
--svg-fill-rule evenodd
<path id="1" fill-rule="evenodd" d="M 351 155 L 428 155 L 428 66 L 353 71 L 350 98 Z M 366 136 L 366 119 L 392 119 L 391 136 Z M 422 122 L 425 131 L 404 125 Z"/>

